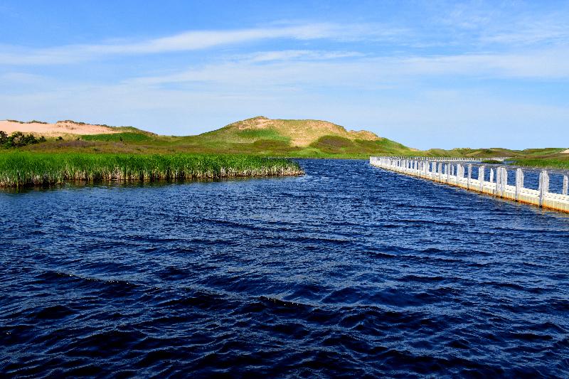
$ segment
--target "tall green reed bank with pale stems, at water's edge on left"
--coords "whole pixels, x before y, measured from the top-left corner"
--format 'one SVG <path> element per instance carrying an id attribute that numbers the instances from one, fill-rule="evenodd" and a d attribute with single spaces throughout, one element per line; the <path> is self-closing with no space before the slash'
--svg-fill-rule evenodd
<path id="1" fill-rule="evenodd" d="M 0 154 L 0 186 L 51 186 L 66 181 L 179 181 L 302 174 L 289 159 L 206 154 Z"/>

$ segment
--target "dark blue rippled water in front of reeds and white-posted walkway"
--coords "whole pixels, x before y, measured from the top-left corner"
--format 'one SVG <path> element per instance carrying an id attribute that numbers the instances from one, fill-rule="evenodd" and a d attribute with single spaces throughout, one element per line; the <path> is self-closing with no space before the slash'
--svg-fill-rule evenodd
<path id="1" fill-rule="evenodd" d="M 569 376 L 569 215 L 301 164 L 0 193 L 0 376 Z"/>

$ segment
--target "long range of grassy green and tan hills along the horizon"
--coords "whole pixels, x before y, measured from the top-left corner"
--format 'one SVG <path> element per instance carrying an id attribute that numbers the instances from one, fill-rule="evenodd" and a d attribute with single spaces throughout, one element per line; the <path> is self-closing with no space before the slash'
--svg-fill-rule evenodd
<path id="1" fill-rule="evenodd" d="M 331 122 L 315 119 L 268 119 L 262 116 L 233 122 L 197 136 L 161 136 L 133 127 L 113 127 L 112 133 L 70 136 L 60 141 L 52 139 L 23 149 L 46 152 L 255 154 L 295 158 L 361 159 L 367 159 L 371 155 L 511 156 L 520 164 L 569 167 L 569 154 L 563 148 L 418 151 L 378 137 L 372 132 L 349 131 Z"/>

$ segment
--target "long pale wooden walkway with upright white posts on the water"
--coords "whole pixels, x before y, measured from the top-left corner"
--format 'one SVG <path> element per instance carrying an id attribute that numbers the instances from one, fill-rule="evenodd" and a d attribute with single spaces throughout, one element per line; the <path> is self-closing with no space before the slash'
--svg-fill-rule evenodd
<path id="1" fill-rule="evenodd" d="M 502 157 L 500 157 L 502 158 Z M 484 159 L 486 160 L 486 159 Z M 492 160 L 504 160 L 492 158 Z M 486 166 L 477 165 L 478 178 L 472 178 L 472 159 L 425 159 L 420 157 L 401 158 L 393 156 L 371 156 L 370 164 L 381 169 L 395 171 L 401 174 L 417 176 L 430 181 L 445 183 L 449 186 L 465 188 L 469 191 L 485 193 L 486 195 L 505 198 L 520 203 L 538 205 L 542 208 L 569 212 L 569 178 L 563 175 L 562 193 L 549 192 L 549 174 L 542 170 L 539 174 L 539 188 L 533 190 L 523 187 L 523 170 L 516 169 L 516 185 L 508 184 L 506 167 L 496 167 L 489 170 L 489 181 L 486 181 Z M 466 166 L 459 161 L 471 162 Z"/>

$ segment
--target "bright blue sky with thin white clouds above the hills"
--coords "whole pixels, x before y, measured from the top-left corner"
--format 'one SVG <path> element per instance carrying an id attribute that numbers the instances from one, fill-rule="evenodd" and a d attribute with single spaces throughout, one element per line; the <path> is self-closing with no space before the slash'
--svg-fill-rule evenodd
<path id="1" fill-rule="evenodd" d="M 0 119 L 569 147 L 568 19 L 569 1 L 4 0 Z"/>

